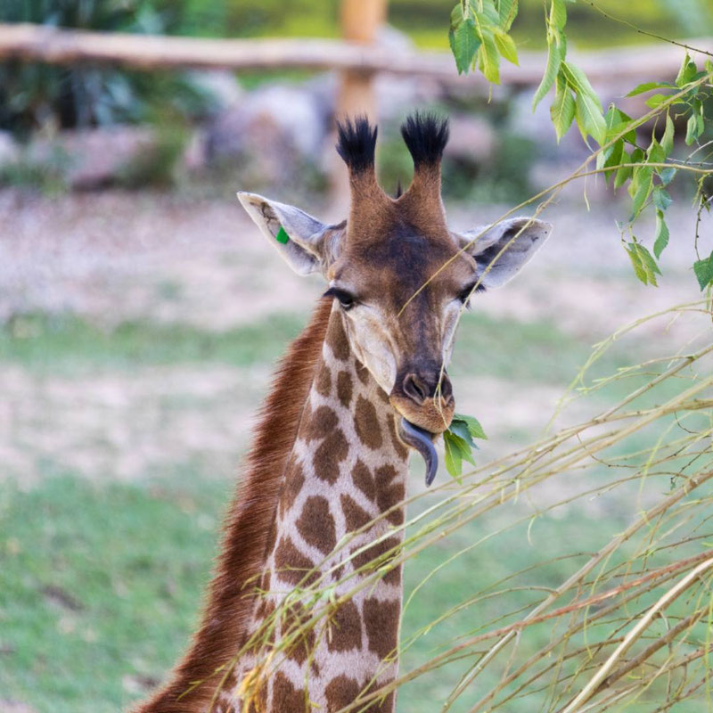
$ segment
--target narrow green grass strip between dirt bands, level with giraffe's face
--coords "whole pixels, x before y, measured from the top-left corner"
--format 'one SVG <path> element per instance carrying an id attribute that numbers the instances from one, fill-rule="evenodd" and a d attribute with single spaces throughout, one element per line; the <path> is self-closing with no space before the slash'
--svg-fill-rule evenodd
<path id="1" fill-rule="evenodd" d="M 41 373 L 196 363 L 271 365 L 306 324 L 307 316 L 286 314 L 226 332 L 209 332 L 188 324 L 149 321 L 102 328 L 71 314 L 17 316 L 0 327 L 0 363 Z M 566 383 L 589 351 L 588 344 L 552 323 L 493 319 L 478 314 L 476 306 L 463 316 L 451 371 Z M 621 355 L 612 358 L 624 363 Z M 605 363 L 612 365 L 609 357 Z"/>

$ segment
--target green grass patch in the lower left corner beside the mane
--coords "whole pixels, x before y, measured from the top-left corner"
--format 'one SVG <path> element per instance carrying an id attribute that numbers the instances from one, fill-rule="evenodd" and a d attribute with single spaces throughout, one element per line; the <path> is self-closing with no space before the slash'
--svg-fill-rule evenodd
<path id="1" fill-rule="evenodd" d="M 192 475 L 0 486 L 0 699 L 108 713 L 127 705 L 131 676 L 160 678 L 176 660 L 230 489 Z"/>

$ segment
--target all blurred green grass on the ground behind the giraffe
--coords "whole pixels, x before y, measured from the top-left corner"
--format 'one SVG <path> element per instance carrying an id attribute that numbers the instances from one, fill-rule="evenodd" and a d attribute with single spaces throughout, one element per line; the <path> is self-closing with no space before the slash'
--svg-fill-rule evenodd
<path id="1" fill-rule="evenodd" d="M 40 378 L 186 363 L 249 369 L 275 361 L 304 321 L 282 315 L 204 332 L 184 324 L 102 329 L 77 316 L 21 316 L 0 332 L 0 365 Z M 490 375 L 523 389 L 528 383 L 564 385 L 588 353 L 586 344 L 553 324 L 496 321 L 476 311 L 463 320 L 451 371 L 456 384 L 459 375 Z M 612 352 L 602 365 L 615 369 L 626 356 Z M 145 694 L 193 629 L 231 490 L 200 461 L 171 466 L 142 484 L 114 482 L 111 471 L 93 482 L 53 473 L 31 489 L 0 480 L 0 704 L 22 701 L 37 713 L 103 713 Z M 512 507 L 508 520 L 529 512 L 527 504 Z M 629 516 L 616 503 L 599 516 L 578 509 L 544 513 L 531 527 L 525 519 L 494 539 L 490 535 L 505 521 L 500 514 L 482 517 L 409 561 L 407 594 L 450 555 L 479 543 L 423 586 L 406 610 L 405 640 L 474 590 L 547 560 L 520 575 L 514 584 L 521 588 L 509 594 L 506 606 L 486 599 L 419 636 L 404 668 L 433 655 L 436 643 L 476 631 L 482 621 L 512 619 L 513 611 L 537 600 L 541 587 L 565 578 L 572 561 L 556 558 L 570 554 L 573 541 L 582 552 L 595 550 Z M 535 651 L 547 636 L 547 627 L 529 629 L 523 651 Z M 449 667 L 407 684 L 399 710 L 430 713 L 457 675 L 458 668 Z M 493 682 L 488 672 L 474 691 Z M 469 692 L 454 711 L 466 710 L 475 695 Z"/>

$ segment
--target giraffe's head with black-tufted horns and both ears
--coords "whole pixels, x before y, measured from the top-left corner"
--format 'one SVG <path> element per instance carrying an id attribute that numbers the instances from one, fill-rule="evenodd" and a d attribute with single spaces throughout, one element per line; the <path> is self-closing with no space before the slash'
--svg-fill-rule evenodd
<path id="1" fill-rule="evenodd" d="M 324 276 L 356 358 L 406 422 L 435 436 L 453 417 L 446 366 L 463 305 L 473 291 L 510 280 L 552 226 L 514 218 L 463 234 L 449 230 L 440 195 L 446 120 L 406 119 L 401 135 L 414 180 L 394 198 L 376 180 L 376 128 L 366 119 L 347 120 L 338 133 L 351 191 L 346 221 L 325 225 L 256 194 L 238 197 L 296 272 Z M 409 442 L 408 433 L 402 436 Z"/>

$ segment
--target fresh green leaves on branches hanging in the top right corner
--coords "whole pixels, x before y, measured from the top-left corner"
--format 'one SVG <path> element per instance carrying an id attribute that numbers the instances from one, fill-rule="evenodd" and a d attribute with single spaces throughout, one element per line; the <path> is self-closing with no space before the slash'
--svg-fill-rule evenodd
<path id="1" fill-rule="evenodd" d="M 547 63 L 533 98 L 533 110 L 545 95 L 553 91 L 550 114 L 558 140 L 570 130 L 572 123 L 576 123 L 585 142 L 591 138 L 599 144 L 599 148 L 570 179 L 602 173 L 615 189 L 627 188 L 631 213 L 619 225 L 621 242 L 635 275 L 644 284 L 655 286 L 657 275 L 661 274 L 661 253 L 668 246 L 670 236 L 666 224 L 666 210 L 672 201 L 668 184 L 678 174 L 696 176 L 699 215 L 702 210 L 709 209 L 706 179 L 713 175 L 713 169 L 708 168 L 710 152 L 708 143 L 701 143 L 701 136 L 707 127 L 713 126 L 713 102 L 709 101 L 713 55 L 701 52 L 708 58 L 700 67 L 686 52 L 675 82 L 653 80 L 629 92 L 628 96 L 655 92 L 646 100 L 651 111 L 643 117 L 632 119 L 614 104 L 604 113 L 602 102 L 586 74 L 567 58 L 565 29 L 568 8 L 575 2 L 549 0 L 547 4 Z M 597 8 L 596 4 L 591 4 Z M 462 0 L 456 4 L 451 13 L 449 38 L 457 70 L 467 72 L 477 68 L 488 81 L 498 83 L 499 57 L 510 61 L 517 59 L 514 42 L 508 34 L 517 12 L 518 4 L 514 0 Z M 604 14 L 611 17 L 606 12 Z M 496 37 L 500 38 L 498 42 Z M 505 41 L 503 37 L 509 39 Z M 497 51 L 492 52 L 488 45 L 496 47 Z M 684 120 L 683 132 L 681 125 Z M 650 137 L 642 142 L 645 127 L 648 127 Z M 676 138 L 679 142 L 683 139 L 687 146 L 696 144 L 696 149 L 684 160 L 672 157 Z M 596 168 L 585 170 L 591 160 L 596 161 Z M 560 188 L 561 184 L 557 184 L 544 192 L 550 193 L 550 196 L 538 212 L 552 201 Z M 636 221 L 644 212 L 655 212 L 656 231 L 652 250 L 635 234 Z M 709 258 L 699 258 L 694 266 L 701 290 L 713 284 L 713 268 L 709 266 Z"/>

